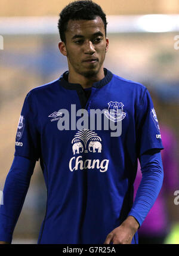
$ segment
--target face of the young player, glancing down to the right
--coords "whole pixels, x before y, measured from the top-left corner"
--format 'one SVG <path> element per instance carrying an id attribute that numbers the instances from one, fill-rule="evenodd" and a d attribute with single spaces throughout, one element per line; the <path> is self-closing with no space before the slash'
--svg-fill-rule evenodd
<path id="1" fill-rule="evenodd" d="M 70 72 L 90 77 L 103 70 L 109 41 L 100 17 L 69 20 L 65 36 L 66 43 L 60 42 L 59 49 L 67 57 Z"/>

